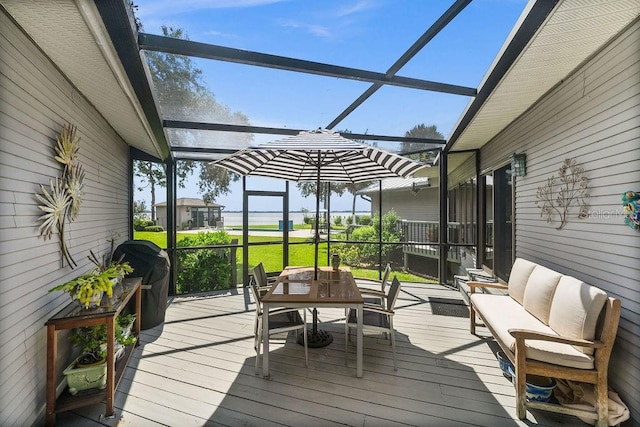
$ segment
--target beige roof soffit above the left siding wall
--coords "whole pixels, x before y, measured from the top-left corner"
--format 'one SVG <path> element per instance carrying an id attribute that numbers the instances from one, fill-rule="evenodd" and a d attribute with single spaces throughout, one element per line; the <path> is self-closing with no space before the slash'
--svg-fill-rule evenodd
<path id="1" fill-rule="evenodd" d="M 92 2 L 10 0 L 3 6 L 127 144 L 162 157 Z"/>

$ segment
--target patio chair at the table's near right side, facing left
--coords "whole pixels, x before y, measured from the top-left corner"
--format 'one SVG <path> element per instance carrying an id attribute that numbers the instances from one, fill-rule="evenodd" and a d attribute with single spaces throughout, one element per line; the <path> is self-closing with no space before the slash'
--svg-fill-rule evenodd
<path id="1" fill-rule="evenodd" d="M 362 291 L 364 295 L 366 291 Z M 378 291 L 376 291 L 376 294 Z M 391 350 L 393 352 L 393 370 L 398 370 L 398 363 L 396 361 L 396 337 L 393 329 L 393 309 L 396 304 L 396 300 L 398 299 L 398 294 L 400 293 L 400 281 L 396 276 L 393 277 L 393 281 L 391 282 L 391 287 L 389 288 L 389 293 L 384 295 L 384 299 L 386 299 L 386 304 L 370 304 L 365 303 L 363 308 L 363 316 L 362 316 L 362 333 L 365 332 L 383 332 L 385 335 L 388 333 L 390 335 L 391 341 Z M 386 305 L 386 308 L 385 308 Z M 352 308 L 349 310 L 347 314 L 347 319 L 344 323 L 344 355 L 345 362 L 347 359 L 347 347 L 348 341 L 350 340 L 350 332 L 351 328 L 357 328 L 357 312 L 356 309 Z"/>

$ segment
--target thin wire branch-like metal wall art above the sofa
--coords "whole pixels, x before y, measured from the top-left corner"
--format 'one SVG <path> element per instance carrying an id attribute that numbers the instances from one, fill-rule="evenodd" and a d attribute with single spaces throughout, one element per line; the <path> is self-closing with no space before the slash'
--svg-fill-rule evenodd
<path id="1" fill-rule="evenodd" d="M 545 185 L 538 187 L 536 205 L 541 209 L 540 216 L 546 217 L 548 223 L 553 223 L 557 215 L 560 225 L 556 230 L 564 227 L 573 206 L 578 208 L 576 215 L 578 219 L 584 219 L 589 214 L 586 202 L 589 198 L 587 192 L 589 179 L 583 176 L 583 173 L 584 170 L 578 166 L 575 159 L 565 159 L 560 166 L 558 178 L 551 175 Z M 557 192 L 556 186 L 559 187 Z"/>

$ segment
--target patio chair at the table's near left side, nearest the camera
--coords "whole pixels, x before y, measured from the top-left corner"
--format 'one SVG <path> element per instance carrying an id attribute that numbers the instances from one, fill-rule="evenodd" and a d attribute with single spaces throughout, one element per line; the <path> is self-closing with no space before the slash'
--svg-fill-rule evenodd
<path id="1" fill-rule="evenodd" d="M 255 280 L 249 282 L 249 289 L 256 303 L 256 317 L 253 332 L 255 334 L 253 348 L 256 351 L 255 372 L 258 374 L 260 363 L 260 347 L 262 345 L 262 303 L 258 290 L 258 283 Z M 304 366 L 309 365 L 309 356 L 307 351 L 307 312 L 302 310 L 303 315 L 300 316 L 300 309 L 297 308 L 277 308 L 269 310 L 269 335 L 281 332 L 296 331 L 300 329 L 304 336 Z"/>

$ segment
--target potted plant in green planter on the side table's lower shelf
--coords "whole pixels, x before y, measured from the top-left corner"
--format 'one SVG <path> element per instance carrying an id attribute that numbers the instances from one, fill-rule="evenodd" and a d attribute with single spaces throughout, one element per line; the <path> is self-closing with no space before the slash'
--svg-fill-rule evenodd
<path id="1" fill-rule="evenodd" d="M 131 335 L 135 316 L 121 314 L 115 322 L 116 360 L 124 354 L 127 345 L 136 342 Z M 107 326 L 104 324 L 76 328 L 69 336 L 69 340 L 80 347 L 82 353 L 64 371 L 69 386 L 69 393 L 75 395 L 78 391 L 106 386 L 107 373 Z"/>

